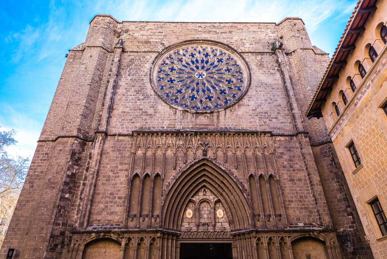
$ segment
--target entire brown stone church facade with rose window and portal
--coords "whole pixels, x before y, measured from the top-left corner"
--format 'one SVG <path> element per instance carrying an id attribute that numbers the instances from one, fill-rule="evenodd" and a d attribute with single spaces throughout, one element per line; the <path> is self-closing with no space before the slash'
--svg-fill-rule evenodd
<path id="1" fill-rule="evenodd" d="M 373 258 L 303 21 L 119 22 L 69 51 L 0 257 Z"/>

